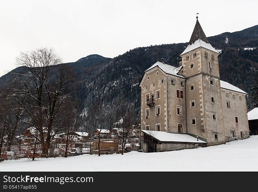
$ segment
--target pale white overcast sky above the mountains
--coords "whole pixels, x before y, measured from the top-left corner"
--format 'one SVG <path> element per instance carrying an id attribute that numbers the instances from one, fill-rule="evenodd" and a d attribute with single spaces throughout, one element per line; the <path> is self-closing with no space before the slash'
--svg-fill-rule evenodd
<path id="1" fill-rule="evenodd" d="M 136 47 L 189 41 L 198 20 L 207 37 L 258 24 L 258 1 L 0 1 L 0 76 L 21 51 L 52 47 L 73 62 L 113 58 Z"/>

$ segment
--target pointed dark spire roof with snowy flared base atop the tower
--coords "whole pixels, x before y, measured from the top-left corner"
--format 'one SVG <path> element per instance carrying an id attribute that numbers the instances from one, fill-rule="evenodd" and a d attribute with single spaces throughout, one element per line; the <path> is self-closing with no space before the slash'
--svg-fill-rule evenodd
<path id="1" fill-rule="evenodd" d="M 203 29 L 201 28 L 201 25 L 197 19 L 195 27 L 193 29 L 191 39 L 189 41 L 189 44 L 186 47 L 186 49 L 183 51 L 183 53 L 181 53 L 180 55 L 188 53 L 189 51 L 197 49 L 198 47 L 203 47 L 203 48 L 209 49 L 211 51 L 214 51 L 216 53 L 219 53 L 219 51 L 214 49 L 213 46 L 211 46 L 211 44 L 209 43 L 205 33 L 203 32 Z"/>

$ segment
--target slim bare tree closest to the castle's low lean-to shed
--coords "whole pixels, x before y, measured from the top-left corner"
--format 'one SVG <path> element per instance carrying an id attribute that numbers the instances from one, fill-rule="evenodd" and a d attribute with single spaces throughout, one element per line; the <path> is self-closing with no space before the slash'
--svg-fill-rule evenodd
<path id="1" fill-rule="evenodd" d="M 124 154 L 124 148 L 126 144 L 131 140 L 130 133 L 133 130 L 133 114 L 131 113 L 132 107 L 130 104 L 127 104 L 126 100 L 123 99 L 119 105 L 119 120 L 117 124 L 118 130 L 118 142 L 122 147 L 122 155 Z"/>

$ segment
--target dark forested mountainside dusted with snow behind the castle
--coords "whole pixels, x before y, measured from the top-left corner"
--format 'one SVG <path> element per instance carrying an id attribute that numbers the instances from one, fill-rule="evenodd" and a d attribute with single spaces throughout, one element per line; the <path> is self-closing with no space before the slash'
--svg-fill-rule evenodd
<path id="1" fill-rule="evenodd" d="M 222 49 L 219 56 L 221 80 L 229 82 L 249 93 L 252 79 L 258 69 L 258 48 L 245 50 L 247 47 L 258 47 L 258 25 L 238 32 L 225 32 L 208 41 L 216 49 Z M 188 43 L 162 44 L 148 47 L 138 47 L 115 58 L 105 58 L 100 55 L 90 55 L 67 63 L 76 74 L 74 81 L 74 100 L 78 103 L 79 113 L 77 123 L 82 131 L 91 130 L 88 106 L 96 97 L 105 100 L 105 128 L 114 126 L 118 120 L 118 103 L 125 98 L 133 105 L 135 123 L 140 122 L 140 89 L 138 83 L 147 68 L 158 58 L 164 58 L 164 63 L 179 66 L 179 54 Z M 16 68 L 14 71 L 22 71 Z M 0 86 L 7 84 L 13 78 L 11 72 L 0 78 Z M 247 108 L 252 108 L 247 96 Z"/>

